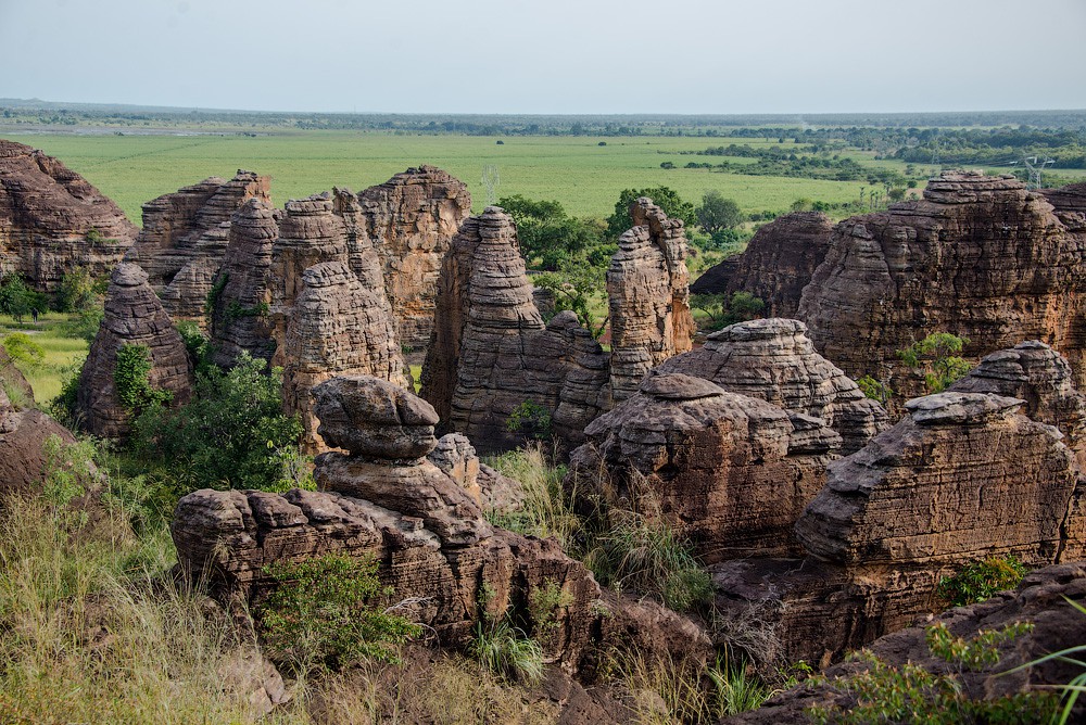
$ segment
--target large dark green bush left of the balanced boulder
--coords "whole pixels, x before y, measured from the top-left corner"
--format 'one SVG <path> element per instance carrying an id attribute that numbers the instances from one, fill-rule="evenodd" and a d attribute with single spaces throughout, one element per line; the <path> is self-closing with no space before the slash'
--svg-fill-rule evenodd
<path id="1" fill-rule="evenodd" d="M 233 368 L 197 373 L 192 400 L 148 408 L 134 424 L 132 447 L 195 488 L 286 491 L 299 485 L 302 425 L 282 414 L 282 371 L 241 355 Z"/>

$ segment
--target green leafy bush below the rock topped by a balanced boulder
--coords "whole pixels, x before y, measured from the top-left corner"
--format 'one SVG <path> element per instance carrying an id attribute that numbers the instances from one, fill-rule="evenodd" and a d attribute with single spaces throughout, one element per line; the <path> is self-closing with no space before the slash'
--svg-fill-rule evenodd
<path id="1" fill-rule="evenodd" d="M 399 661 L 395 645 L 421 627 L 378 608 L 393 592 L 378 581 L 377 567 L 344 555 L 265 567 L 275 584 L 255 613 L 273 659 L 301 674 Z"/>

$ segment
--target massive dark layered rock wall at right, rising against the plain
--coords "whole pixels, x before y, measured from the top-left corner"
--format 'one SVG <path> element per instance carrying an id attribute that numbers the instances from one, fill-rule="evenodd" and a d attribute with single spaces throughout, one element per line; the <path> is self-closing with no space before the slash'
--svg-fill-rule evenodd
<path id="1" fill-rule="evenodd" d="M 1013 177 L 944 171 L 923 200 L 837 225 L 797 315 L 845 372 L 889 371 L 906 397 L 923 380 L 897 351 L 932 332 L 968 338 L 973 359 L 1041 340 L 1082 385 L 1086 226 L 1069 227 L 1072 216 Z"/>

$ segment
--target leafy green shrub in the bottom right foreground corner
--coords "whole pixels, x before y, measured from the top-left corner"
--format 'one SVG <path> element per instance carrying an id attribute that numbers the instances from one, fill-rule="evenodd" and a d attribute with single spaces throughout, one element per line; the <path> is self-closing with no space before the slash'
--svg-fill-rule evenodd
<path id="1" fill-rule="evenodd" d="M 981 670 L 998 664 L 999 646 L 1033 631 L 1028 623 L 1015 623 L 1001 629 L 980 632 L 971 639 L 954 636 L 946 625 L 934 624 L 925 631 L 931 652 L 945 660 L 945 672 L 935 674 L 906 663 L 891 665 L 869 651 L 855 659 L 867 669 L 833 685 L 856 699 L 847 711 L 836 705 L 816 705 L 807 714 L 819 725 L 839 723 L 959 723 L 1021 724 L 1044 723 L 1055 712 L 1056 699 L 1048 692 L 1019 692 L 1000 698 L 973 698 L 961 679 L 963 670 Z"/>

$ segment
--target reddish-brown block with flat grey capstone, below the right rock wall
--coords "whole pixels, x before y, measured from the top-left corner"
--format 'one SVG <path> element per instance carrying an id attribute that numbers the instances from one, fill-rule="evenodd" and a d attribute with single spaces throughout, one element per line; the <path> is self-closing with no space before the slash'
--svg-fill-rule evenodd
<path id="1" fill-rule="evenodd" d="M 770 621 L 788 661 L 828 662 L 937 611 L 943 575 L 994 555 L 1030 567 L 1086 556 L 1075 457 L 1022 400 L 942 393 L 834 461 L 796 523 L 806 560 L 714 568 L 717 605 Z"/>

